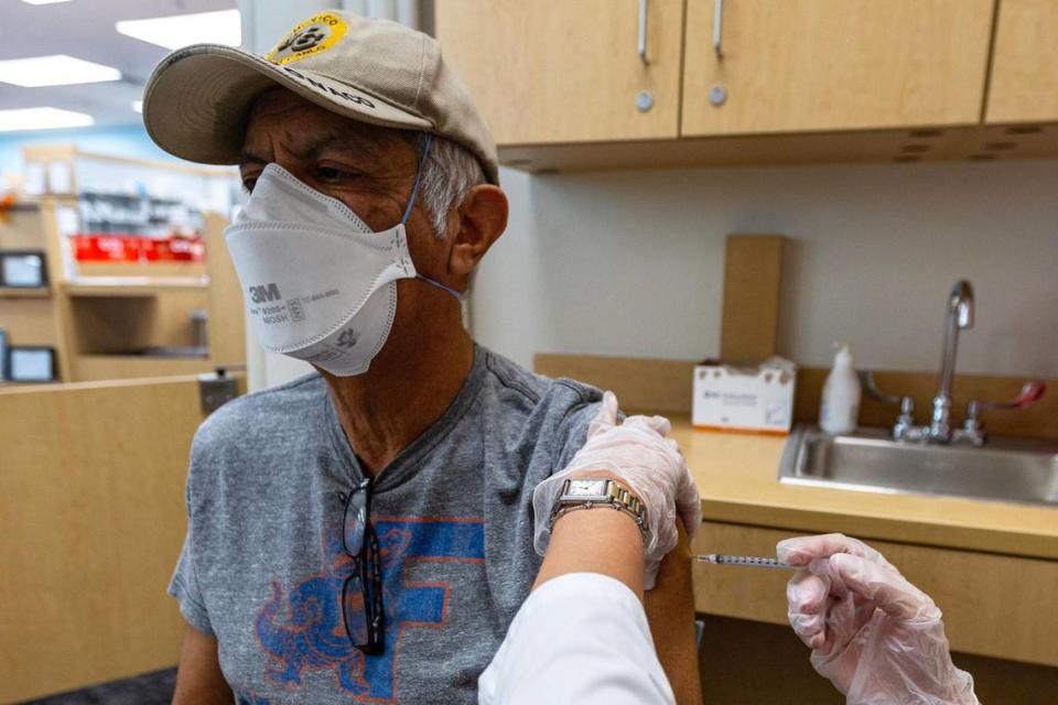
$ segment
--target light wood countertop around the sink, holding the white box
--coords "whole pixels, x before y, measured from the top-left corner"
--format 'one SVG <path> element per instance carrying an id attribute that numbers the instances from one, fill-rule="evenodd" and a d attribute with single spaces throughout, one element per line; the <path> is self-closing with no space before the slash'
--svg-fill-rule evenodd
<path id="1" fill-rule="evenodd" d="M 782 485 L 786 438 L 695 430 L 670 415 L 705 521 L 1058 560 L 1058 508 Z"/>

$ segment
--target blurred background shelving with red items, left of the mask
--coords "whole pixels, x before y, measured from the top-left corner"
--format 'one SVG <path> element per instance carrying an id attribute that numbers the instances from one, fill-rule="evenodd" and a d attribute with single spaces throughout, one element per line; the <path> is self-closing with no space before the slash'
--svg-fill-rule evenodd
<path id="1" fill-rule="evenodd" d="M 0 248 L 44 250 L 48 273 L 44 288 L 0 289 L 11 345 L 55 348 L 62 381 L 245 361 L 241 294 L 223 238 L 238 197 L 231 170 L 73 145 L 26 147 L 23 159 L 61 178 L 23 194 L 0 223 Z"/>

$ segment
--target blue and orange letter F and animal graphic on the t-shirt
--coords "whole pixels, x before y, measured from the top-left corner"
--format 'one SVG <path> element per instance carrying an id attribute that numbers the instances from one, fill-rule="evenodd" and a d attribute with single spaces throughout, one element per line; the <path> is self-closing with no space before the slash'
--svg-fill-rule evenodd
<path id="1" fill-rule="evenodd" d="M 485 529 L 482 519 L 373 518 L 382 568 L 386 650 L 365 657 L 349 643 L 342 617 L 342 587 L 353 561 L 342 546 L 341 525 L 324 538 L 327 564 L 289 590 L 272 581 L 271 599 L 257 615 L 257 636 L 269 655 L 266 679 L 283 690 L 296 690 L 306 671 L 331 670 L 337 686 L 373 699 L 395 696 L 395 663 L 400 631 L 444 629 L 449 583 L 406 582 L 410 562 L 482 563 Z M 424 664 L 425 668 L 425 664 Z"/>

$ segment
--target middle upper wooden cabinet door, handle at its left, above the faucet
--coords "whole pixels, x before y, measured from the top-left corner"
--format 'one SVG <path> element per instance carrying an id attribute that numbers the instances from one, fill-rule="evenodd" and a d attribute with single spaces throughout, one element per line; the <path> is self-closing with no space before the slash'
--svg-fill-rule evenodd
<path id="1" fill-rule="evenodd" d="M 975 123 L 992 9 L 993 0 L 688 0 L 682 133 Z"/>

